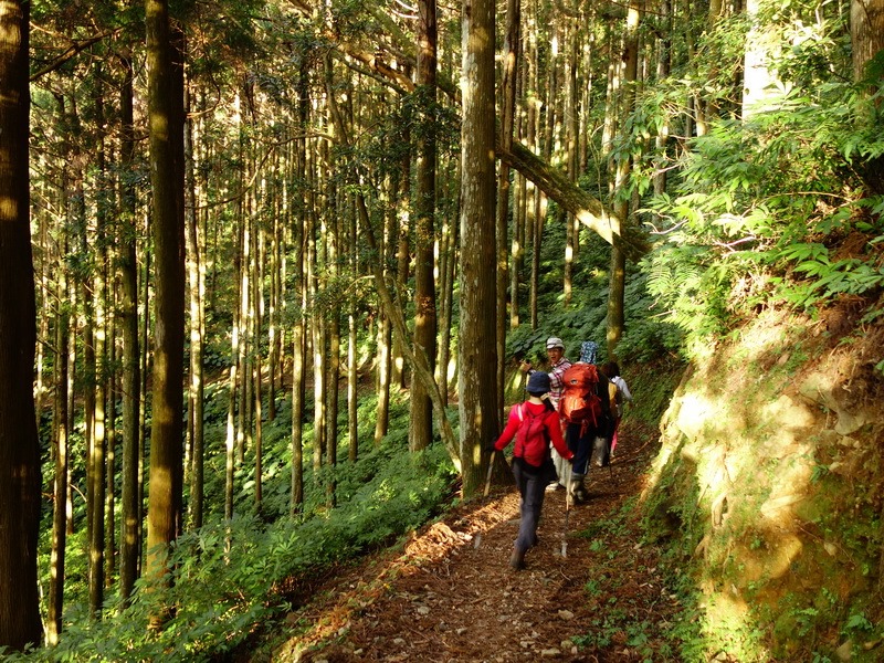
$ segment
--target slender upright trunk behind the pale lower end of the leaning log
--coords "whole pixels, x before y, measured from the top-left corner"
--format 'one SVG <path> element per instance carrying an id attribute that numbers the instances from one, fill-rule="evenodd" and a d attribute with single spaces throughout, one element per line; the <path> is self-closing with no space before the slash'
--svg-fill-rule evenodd
<path id="1" fill-rule="evenodd" d="M 644 12 L 644 0 L 631 0 L 627 12 L 627 25 L 623 36 L 623 86 L 621 88 L 620 130 L 625 131 L 625 118 L 635 105 L 635 85 L 639 73 L 639 23 Z M 632 167 L 632 159 L 623 156 L 615 165 L 614 212 L 620 223 L 629 220 L 629 198 L 627 186 Z M 619 229 L 618 229 L 619 230 Z M 623 336 L 624 297 L 627 281 L 627 256 L 622 249 L 611 246 L 610 291 L 608 294 L 608 357 L 617 361 L 617 345 Z"/>

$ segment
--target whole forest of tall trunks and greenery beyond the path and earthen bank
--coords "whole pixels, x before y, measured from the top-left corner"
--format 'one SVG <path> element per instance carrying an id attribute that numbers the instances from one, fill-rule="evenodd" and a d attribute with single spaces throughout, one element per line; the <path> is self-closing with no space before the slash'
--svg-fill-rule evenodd
<path id="1" fill-rule="evenodd" d="M 547 336 L 874 297 L 882 42 L 882 0 L 3 2 L 0 646 L 233 648 L 481 493 Z"/>

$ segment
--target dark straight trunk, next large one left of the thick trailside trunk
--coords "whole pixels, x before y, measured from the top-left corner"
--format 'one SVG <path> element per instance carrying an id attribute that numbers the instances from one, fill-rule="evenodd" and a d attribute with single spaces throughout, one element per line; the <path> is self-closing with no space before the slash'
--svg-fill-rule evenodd
<path id="1" fill-rule="evenodd" d="M 436 298 L 433 280 L 435 243 L 436 139 L 436 7 L 435 0 L 418 2 L 418 107 L 421 129 L 417 145 L 414 223 L 414 338 L 434 371 L 436 352 Z M 420 351 L 418 347 L 414 351 Z M 427 449 L 433 439 L 433 406 L 420 380 L 411 381 L 409 449 Z"/>

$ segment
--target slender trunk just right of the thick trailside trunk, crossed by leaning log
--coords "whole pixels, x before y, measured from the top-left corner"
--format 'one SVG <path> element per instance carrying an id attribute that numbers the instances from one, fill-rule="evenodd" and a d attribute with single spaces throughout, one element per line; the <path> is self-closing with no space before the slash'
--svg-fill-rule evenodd
<path id="1" fill-rule="evenodd" d="M 504 62 L 503 62 L 503 83 L 501 94 L 501 137 L 498 144 L 503 149 L 508 150 L 513 145 L 513 133 L 516 117 L 516 81 L 518 78 L 519 60 L 519 23 L 522 21 L 520 0 L 508 0 L 506 3 L 506 36 L 504 39 Z M 504 411 L 504 383 L 506 381 L 506 287 L 509 283 L 508 269 L 515 270 L 515 264 L 508 266 L 507 252 L 507 221 L 509 218 L 509 166 L 501 161 L 497 167 L 497 409 Z M 514 214 L 515 217 L 515 214 Z M 515 241 L 515 223 L 513 238 Z M 513 288 L 509 293 L 511 315 L 512 311 L 518 309 L 518 288 Z M 517 314 L 516 314 L 517 315 Z"/>

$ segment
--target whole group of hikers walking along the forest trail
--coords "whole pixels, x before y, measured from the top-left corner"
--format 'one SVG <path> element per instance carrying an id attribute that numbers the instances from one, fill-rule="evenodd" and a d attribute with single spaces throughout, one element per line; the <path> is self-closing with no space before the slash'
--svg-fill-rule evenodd
<path id="1" fill-rule="evenodd" d="M 617 448 L 623 407 L 633 402 L 615 361 L 596 365 L 598 344 L 580 346 L 580 360 L 565 357 L 558 337 L 546 341 L 549 370 L 523 361 L 528 398 L 509 410 L 506 428 L 490 445 L 503 451 L 515 440 L 513 475 L 522 495 L 522 518 L 509 566 L 525 568 L 526 552 L 537 545 L 537 523 L 547 491 L 564 488 L 566 503 L 588 498 L 590 465 L 608 466 Z"/>

